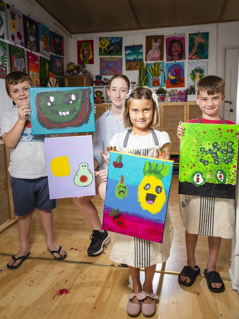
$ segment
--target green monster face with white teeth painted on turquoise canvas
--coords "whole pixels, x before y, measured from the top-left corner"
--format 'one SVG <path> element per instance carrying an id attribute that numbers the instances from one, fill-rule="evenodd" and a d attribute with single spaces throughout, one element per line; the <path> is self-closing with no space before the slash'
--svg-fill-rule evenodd
<path id="1" fill-rule="evenodd" d="M 78 127 L 88 123 L 92 111 L 90 95 L 90 88 L 37 93 L 38 121 L 47 129 Z"/>

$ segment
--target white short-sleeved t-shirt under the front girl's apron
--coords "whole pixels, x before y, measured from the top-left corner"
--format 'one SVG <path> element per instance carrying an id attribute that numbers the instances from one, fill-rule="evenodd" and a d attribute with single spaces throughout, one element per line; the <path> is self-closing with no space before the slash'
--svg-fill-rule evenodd
<path id="1" fill-rule="evenodd" d="M 154 132 L 156 133 L 156 136 L 158 138 L 159 147 L 162 147 L 165 143 L 171 143 L 168 133 L 159 132 L 157 130 L 154 130 Z M 115 134 L 110 141 L 110 146 L 112 147 L 116 146 L 116 150 L 118 152 L 121 152 L 126 134 L 127 134 L 127 131 L 123 133 Z M 141 154 L 138 154 L 138 155 L 148 156 L 147 149 L 153 148 L 155 146 L 156 145 L 155 145 L 152 133 L 149 133 L 148 135 L 145 135 L 145 136 L 139 136 L 139 135 L 133 135 L 133 134 L 129 135 L 127 148 L 132 148 L 134 150 L 135 149 L 142 150 Z"/>

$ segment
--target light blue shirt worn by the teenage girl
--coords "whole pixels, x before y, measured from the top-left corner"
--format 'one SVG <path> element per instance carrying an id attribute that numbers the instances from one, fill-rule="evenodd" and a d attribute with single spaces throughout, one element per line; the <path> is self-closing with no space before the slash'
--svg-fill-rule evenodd
<path id="1" fill-rule="evenodd" d="M 114 134 L 122 133 L 127 130 L 124 127 L 123 118 L 117 122 L 113 115 L 109 112 L 110 109 L 111 108 L 101 115 L 95 123 L 93 155 L 100 164 L 100 169 L 108 168 L 105 160 L 100 155 L 100 151 L 106 154 L 106 146 L 109 145 L 109 142 Z"/>

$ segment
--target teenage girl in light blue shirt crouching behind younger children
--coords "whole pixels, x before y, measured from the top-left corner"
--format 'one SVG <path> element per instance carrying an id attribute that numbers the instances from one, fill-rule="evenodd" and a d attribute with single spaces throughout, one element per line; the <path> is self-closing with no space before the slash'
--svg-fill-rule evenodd
<path id="1" fill-rule="evenodd" d="M 101 183 L 107 179 L 107 165 L 100 155 L 100 151 L 106 151 L 106 145 L 116 133 L 125 131 L 123 122 L 122 105 L 126 94 L 130 89 L 130 81 L 123 74 L 114 75 L 110 82 L 107 93 L 112 106 L 96 121 L 93 141 L 94 167 L 100 165 L 99 171 L 95 172 L 96 194 L 101 191 Z M 89 256 L 95 256 L 103 252 L 103 246 L 110 241 L 107 231 L 102 231 L 102 225 L 98 217 L 98 211 L 91 199 L 93 196 L 73 198 L 73 202 L 79 208 L 83 216 L 90 222 L 93 232 L 90 237 L 91 244 L 87 250 Z"/>

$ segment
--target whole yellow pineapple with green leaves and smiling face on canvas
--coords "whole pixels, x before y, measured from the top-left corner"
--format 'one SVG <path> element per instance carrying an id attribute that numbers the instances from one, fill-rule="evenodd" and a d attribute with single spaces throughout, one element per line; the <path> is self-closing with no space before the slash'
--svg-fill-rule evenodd
<path id="1" fill-rule="evenodd" d="M 169 174 L 169 170 L 170 165 L 145 162 L 144 178 L 138 187 L 138 201 L 143 210 L 156 214 L 162 209 L 166 201 L 162 178 Z"/>

